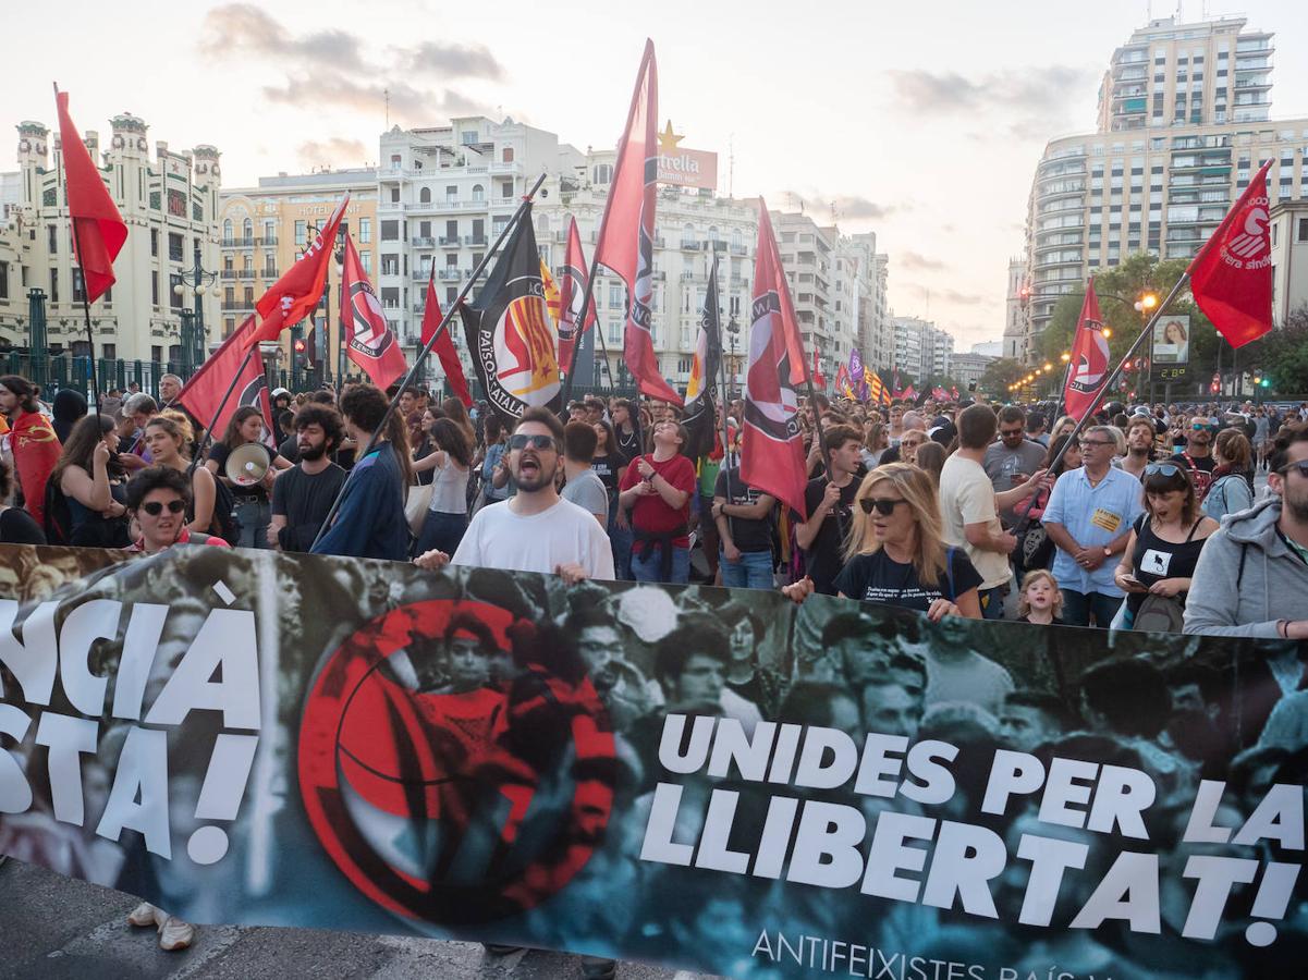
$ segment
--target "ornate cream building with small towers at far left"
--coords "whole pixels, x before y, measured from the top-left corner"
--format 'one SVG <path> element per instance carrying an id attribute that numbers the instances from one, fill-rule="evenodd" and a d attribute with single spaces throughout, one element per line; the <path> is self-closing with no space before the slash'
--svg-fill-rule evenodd
<path id="1" fill-rule="evenodd" d="M 0 345 L 29 347 L 30 294 L 39 290 L 46 353 L 81 357 L 90 344 L 59 136 L 39 122 L 17 130 L 20 169 L 0 178 Z M 123 114 L 110 120 L 105 144 L 98 132 L 84 135 L 127 222 L 118 281 L 92 304 L 92 331 L 97 357 L 181 364 L 183 314 L 203 324 L 205 341 L 217 336 L 218 298 L 194 285 L 196 268 L 218 260 L 220 153 L 209 145 L 175 152 L 160 140 L 152 154 L 148 132 L 143 119 Z"/>

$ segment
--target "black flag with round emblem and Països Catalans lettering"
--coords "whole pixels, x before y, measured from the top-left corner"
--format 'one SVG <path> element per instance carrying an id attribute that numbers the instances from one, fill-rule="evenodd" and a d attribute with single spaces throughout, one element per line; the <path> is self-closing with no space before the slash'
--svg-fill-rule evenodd
<path id="1" fill-rule="evenodd" d="M 510 427 L 527 408 L 560 411 L 555 328 L 540 281 L 531 204 L 500 253 L 487 284 L 459 313 L 487 400 Z"/>

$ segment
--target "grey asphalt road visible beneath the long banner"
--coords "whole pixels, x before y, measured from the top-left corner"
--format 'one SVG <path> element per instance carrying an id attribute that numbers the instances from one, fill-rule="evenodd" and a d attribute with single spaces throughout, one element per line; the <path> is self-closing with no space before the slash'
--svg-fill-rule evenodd
<path id="1" fill-rule="evenodd" d="M 581 977 L 577 956 L 530 950 L 489 956 L 477 943 L 390 936 L 204 926 L 195 946 L 164 953 L 153 929 L 127 925 L 136 899 L 13 858 L 0 864 L 0 980 L 559 980 Z M 696 973 L 623 963 L 621 980 Z"/>

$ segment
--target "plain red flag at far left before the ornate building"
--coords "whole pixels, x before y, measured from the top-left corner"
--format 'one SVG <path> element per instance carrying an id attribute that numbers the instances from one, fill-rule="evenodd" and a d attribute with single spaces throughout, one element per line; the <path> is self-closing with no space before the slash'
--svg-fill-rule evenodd
<path id="1" fill-rule="evenodd" d="M 55 102 L 59 106 L 59 141 L 63 147 L 73 249 L 82 271 L 86 302 L 95 302 L 114 285 L 114 259 L 127 241 L 127 224 L 68 115 L 68 93 L 55 89 Z"/>

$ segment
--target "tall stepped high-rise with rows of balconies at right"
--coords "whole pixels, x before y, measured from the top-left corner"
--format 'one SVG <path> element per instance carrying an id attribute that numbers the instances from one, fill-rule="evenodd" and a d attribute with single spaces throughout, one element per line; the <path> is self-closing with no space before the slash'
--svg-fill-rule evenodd
<path id="1" fill-rule="evenodd" d="M 1193 256 L 1264 161 L 1273 203 L 1303 200 L 1308 119 L 1269 122 L 1271 58 L 1244 18 L 1152 21 L 1113 52 L 1097 131 L 1052 140 L 1036 167 L 1024 360 L 1093 270 Z"/>

